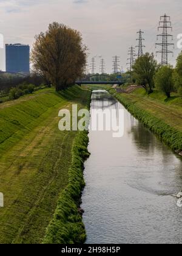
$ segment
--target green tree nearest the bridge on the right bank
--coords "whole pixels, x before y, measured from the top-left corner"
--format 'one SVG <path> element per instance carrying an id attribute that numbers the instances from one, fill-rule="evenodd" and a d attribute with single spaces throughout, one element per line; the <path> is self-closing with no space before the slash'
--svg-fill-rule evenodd
<path id="1" fill-rule="evenodd" d="M 148 93 L 153 92 L 153 78 L 157 72 L 157 61 L 153 54 L 147 52 L 143 56 L 136 59 L 133 65 L 132 77 L 136 79 L 136 83 L 142 85 Z"/>

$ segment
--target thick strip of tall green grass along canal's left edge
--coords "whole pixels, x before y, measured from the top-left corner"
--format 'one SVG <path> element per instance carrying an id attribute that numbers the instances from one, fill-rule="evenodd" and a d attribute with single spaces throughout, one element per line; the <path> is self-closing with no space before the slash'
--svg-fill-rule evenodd
<path id="1" fill-rule="evenodd" d="M 85 186 L 84 161 L 90 155 L 87 151 L 89 143 L 87 135 L 87 131 L 78 132 L 73 142 L 69 183 L 58 200 L 55 214 L 47 228 L 44 244 L 78 244 L 86 241 L 86 230 L 79 205 Z"/>

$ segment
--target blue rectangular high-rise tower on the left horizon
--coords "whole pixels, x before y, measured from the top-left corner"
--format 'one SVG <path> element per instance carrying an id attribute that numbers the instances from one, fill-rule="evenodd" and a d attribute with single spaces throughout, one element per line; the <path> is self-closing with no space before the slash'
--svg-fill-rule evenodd
<path id="1" fill-rule="evenodd" d="M 30 46 L 6 44 L 5 60 L 7 72 L 30 73 Z"/>

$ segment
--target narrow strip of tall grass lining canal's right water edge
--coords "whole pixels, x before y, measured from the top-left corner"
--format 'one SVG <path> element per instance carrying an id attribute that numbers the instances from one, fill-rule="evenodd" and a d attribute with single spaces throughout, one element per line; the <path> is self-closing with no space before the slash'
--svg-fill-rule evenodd
<path id="1" fill-rule="evenodd" d="M 111 89 L 109 92 L 113 94 L 113 96 L 115 96 L 115 98 L 118 99 L 118 101 L 120 101 L 136 119 L 141 121 L 144 126 L 158 135 L 167 146 L 182 155 L 182 132 L 164 123 L 163 120 L 153 116 L 146 110 L 136 107 L 135 102 L 124 98 L 122 94 L 115 93 L 115 90 Z"/>

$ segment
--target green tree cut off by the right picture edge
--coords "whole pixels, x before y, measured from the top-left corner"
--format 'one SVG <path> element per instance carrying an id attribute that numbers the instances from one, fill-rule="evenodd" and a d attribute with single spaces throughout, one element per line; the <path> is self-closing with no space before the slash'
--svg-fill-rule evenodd
<path id="1" fill-rule="evenodd" d="M 177 65 L 173 74 L 174 85 L 180 96 L 182 96 L 182 52 L 177 57 Z"/>

